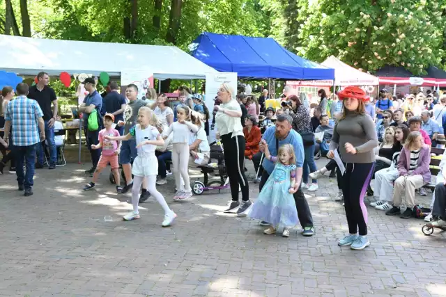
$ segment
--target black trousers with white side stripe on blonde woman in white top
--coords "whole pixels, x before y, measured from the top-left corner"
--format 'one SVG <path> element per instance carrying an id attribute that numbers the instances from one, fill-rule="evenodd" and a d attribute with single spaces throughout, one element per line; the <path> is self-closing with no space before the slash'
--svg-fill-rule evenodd
<path id="1" fill-rule="evenodd" d="M 249 186 L 245 176 L 245 138 L 231 134 L 222 135 L 224 150 L 224 166 L 231 185 L 231 196 L 233 201 L 238 201 L 238 185 L 242 189 L 242 200 L 249 200 Z"/>

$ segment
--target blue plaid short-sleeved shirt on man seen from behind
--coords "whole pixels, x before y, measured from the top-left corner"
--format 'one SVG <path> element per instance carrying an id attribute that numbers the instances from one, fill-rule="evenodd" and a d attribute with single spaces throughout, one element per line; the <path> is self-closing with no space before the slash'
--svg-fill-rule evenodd
<path id="1" fill-rule="evenodd" d="M 5 120 L 11 122 L 13 145 L 27 147 L 40 143 L 38 118 L 43 117 L 36 100 L 26 96 L 16 97 L 8 103 Z"/>

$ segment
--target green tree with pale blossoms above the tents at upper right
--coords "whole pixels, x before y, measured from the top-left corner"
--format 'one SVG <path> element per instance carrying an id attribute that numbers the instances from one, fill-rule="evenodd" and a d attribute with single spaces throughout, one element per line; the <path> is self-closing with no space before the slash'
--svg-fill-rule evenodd
<path id="1" fill-rule="evenodd" d="M 444 2 L 319 0 L 300 12 L 300 54 L 318 62 L 338 56 L 371 72 L 395 65 L 422 74 L 444 54 Z"/>

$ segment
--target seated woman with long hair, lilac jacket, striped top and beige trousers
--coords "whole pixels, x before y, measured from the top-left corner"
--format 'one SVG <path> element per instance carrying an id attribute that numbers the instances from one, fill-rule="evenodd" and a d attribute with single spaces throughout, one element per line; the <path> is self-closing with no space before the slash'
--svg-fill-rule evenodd
<path id="1" fill-rule="evenodd" d="M 397 169 L 399 177 L 394 183 L 393 207 L 385 214 L 394 216 L 400 213 L 399 207 L 405 204 L 407 209 L 400 218 L 410 218 L 415 206 L 415 189 L 431 181 L 430 148 L 424 145 L 423 136 L 420 131 L 413 131 L 407 137 L 407 141 L 401 150 Z M 406 197 L 403 203 L 403 195 Z"/>

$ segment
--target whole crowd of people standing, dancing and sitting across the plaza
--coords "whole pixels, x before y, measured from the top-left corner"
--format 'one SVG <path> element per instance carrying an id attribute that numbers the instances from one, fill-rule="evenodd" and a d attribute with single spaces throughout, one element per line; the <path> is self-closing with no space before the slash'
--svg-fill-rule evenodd
<path id="1" fill-rule="evenodd" d="M 48 168 L 56 168 L 58 105 L 48 83 L 48 74 L 41 72 L 36 86 L 16 86 L 17 97 L 10 87 L 1 93 L 0 172 L 8 161 L 11 172 L 15 165 L 18 188 L 26 196 L 33 194 L 34 169 L 44 166 L 44 150 L 49 155 Z M 134 84 L 126 86 L 125 96 L 118 93 L 116 81 L 102 95 L 96 84 L 93 78 L 83 82 L 89 94 L 79 106 L 92 163 L 86 170 L 92 180 L 84 190 L 94 188 L 100 172 L 110 164 L 116 192 L 132 193 L 133 210 L 123 219 L 139 218 L 139 203 L 153 195 L 164 210 L 164 227 L 171 225 L 176 214 L 156 186 L 166 184 L 167 175 L 173 174 L 173 200 L 190 198 L 189 168 L 210 163 L 209 128 L 216 128 L 231 191 L 225 212 L 261 220 L 261 225 L 268 226 L 265 234 L 283 227 L 282 235 L 289 236 L 291 228 L 300 223 L 302 234 L 312 236 L 313 218 L 303 191 L 317 191 L 318 179 L 330 172 L 337 177 L 335 200 L 344 202 L 348 222 L 349 234 L 339 246 L 362 250 L 370 245 L 364 196 L 374 195 L 371 206 L 387 215 L 413 216 L 415 191 L 426 195 L 423 186 L 431 182 L 431 147 L 441 142 L 446 127 L 446 95 L 438 98 L 435 93 L 401 99 L 384 89 L 371 102 L 361 88 L 346 87 L 331 98 L 321 89 L 320 102 L 310 106 L 305 93 L 290 94 L 286 86 L 282 108 L 274 109 L 266 106 L 267 90 L 257 100 L 222 83 L 210 113 L 203 96 L 191 94 L 185 86 L 178 89 L 178 103 L 169 107 L 163 93 L 151 103 L 137 98 L 139 90 Z M 321 169 L 314 161 L 319 156 L 330 159 Z M 440 227 L 446 227 L 446 154 L 443 159 L 429 216 Z M 259 182 L 259 198 L 254 203 L 249 200 L 245 175 L 249 160 Z"/>

